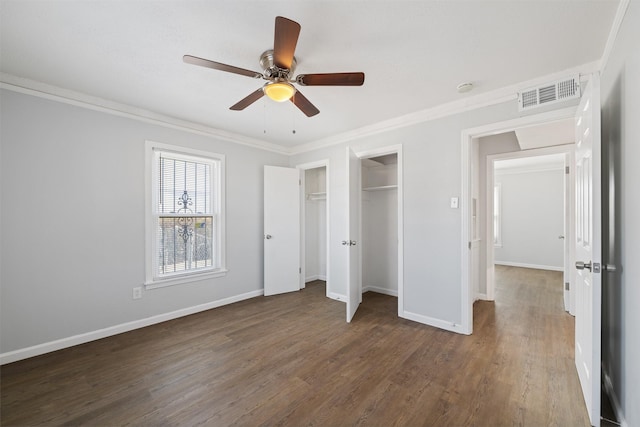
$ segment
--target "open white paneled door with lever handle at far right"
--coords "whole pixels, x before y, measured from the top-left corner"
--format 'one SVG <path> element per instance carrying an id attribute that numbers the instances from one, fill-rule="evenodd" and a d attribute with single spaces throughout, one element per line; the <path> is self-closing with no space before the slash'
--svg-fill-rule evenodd
<path id="1" fill-rule="evenodd" d="M 575 363 L 591 425 L 600 425 L 600 80 L 593 74 L 576 112 Z"/>

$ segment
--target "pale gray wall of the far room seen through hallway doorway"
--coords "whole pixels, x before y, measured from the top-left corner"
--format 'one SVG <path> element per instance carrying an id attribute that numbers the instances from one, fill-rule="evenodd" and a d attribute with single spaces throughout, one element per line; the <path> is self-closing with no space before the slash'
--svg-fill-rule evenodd
<path id="1" fill-rule="evenodd" d="M 564 270 L 564 170 L 498 170 L 502 247 L 495 264 Z"/>

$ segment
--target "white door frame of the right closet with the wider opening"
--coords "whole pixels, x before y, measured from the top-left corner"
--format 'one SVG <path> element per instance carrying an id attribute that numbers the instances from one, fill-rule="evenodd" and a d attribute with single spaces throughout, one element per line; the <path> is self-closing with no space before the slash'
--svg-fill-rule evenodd
<path id="1" fill-rule="evenodd" d="M 402 159 L 402 144 L 389 145 L 385 147 L 372 148 L 369 150 L 361 150 L 355 152 L 356 156 L 360 160 L 369 159 L 371 157 L 384 156 L 387 154 L 396 154 L 398 156 L 398 316 L 406 317 L 404 315 L 404 193 L 403 193 L 403 183 L 402 177 L 403 173 L 403 159 Z M 358 199 L 360 200 L 360 219 L 359 219 L 359 227 L 360 227 L 360 236 L 362 236 L 362 189 L 359 188 L 358 192 L 360 195 Z M 362 277 L 362 251 L 360 251 L 360 277 Z M 362 282 L 362 281 L 361 281 Z M 360 298 L 362 301 L 362 283 L 360 284 Z"/>

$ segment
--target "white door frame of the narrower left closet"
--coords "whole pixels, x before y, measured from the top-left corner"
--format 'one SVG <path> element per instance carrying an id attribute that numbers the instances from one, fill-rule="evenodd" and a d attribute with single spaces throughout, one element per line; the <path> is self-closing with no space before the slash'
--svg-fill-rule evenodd
<path id="1" fill-rule="evenodd" d="M 326 296 L 330 298 L 331 295 L 331 281 L 330 281 L 330 266 L 331 266 L 331 245 L 329 244 L 329 242 L 331 241 L 330 235 L 331 235 L 331 228 L 330 228 L 330 215 L 329 213 L 331 212 L 330 210 L 330 206 L 331 206 L 331 192 L 329 190 L 330 186 L 329 186 L 329 174 L 330 174 L 330 162 L 329 159 L 322 159 L 322 160 L 318 160 L 315 162 L 309 162 L 309 163 L 302 163 L 299 165 L 296 165 L 295 168 L 299 170 L 300 173 L 300 289 L 304 289 L 306 287 L 306 263 L 307 263 L 307 259 L 306 259 L 306 219 L 307 219 L 307 215 L 306 215 L 306 195 L 305 195 L 305 172 L 309 169 L 316 169 L 316 168 L 321 168 L 324 167 L 325 168 L 325 191 L 327 193 L 327 199 L 326 199 L 326 212 L 325 212 L 325 227 L 326 227 L 326 242 L 325 242 L 325 247 L 326 247 L 326 259 L 327 259 L 327 274 L 326 274 Z"/>

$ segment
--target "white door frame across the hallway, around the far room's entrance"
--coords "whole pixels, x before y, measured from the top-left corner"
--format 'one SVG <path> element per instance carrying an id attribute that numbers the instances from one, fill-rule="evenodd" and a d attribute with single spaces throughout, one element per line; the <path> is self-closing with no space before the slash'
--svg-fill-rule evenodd
<path id="1" fill-rule="evenodd" d="M 545 156 L 549 154 L 563 154 L 564 155 L 564 167 L 569 166 L 568 176 L 564 179 L 563 182 L 563 193 L 564 193 L 564 214 L 563 214 L 563 224 L 564 224 L 564 250 L 563 250 L 563 272 L 565 274 L 564 278 L 566 278 L 566 274 L 568 273 L 568 266 L 571 265 L 569 263 L 570 260 L 574 258 L 573 251 L 571 251 L 570 242 L 573 242 L 573 230 L 574 230 L 574 220 L 573 220 L 573 192 L 574 192 L 574 167 L 572 167 L 574 163 L 574 147 L 575 143 L 572 144 L 564 144 L 564 145 L 556 145 L 552 147 L 543 147 L 543 148 L 535 148 L 531 150 L 521 150 L 521 151 L 511 151 L 507 153 L 499 153 L 492 154 L 487 156 L 487 167 L 486 167 L 486 216 L 485 216 L 485 230 L 486 230 L 486 238 L 484 239 L 486 242 L 485 245 L 485 253 L 486 253 L 486 267 L 487 277 L 486 277 L 486 299 L 488 301 L 495 300 L 495 247 L 489 236 L 493 235 L 493 187 L 495 185 L 495 162 L 501 160 L 511 160 L 511 159 L 522 159 L 528 157 L 538 157 Z M 567 186 L 567 183 L 569 184 Z M 569 250 L 567 250 L 569 249 Z M 563 279 L 564 279 L 563 278 Z M 569 292 L 573 292 L 574 287 L 570 286 Z M 568 307 L 565 307 L 567 309 Z M 570 310 L 567 310 L 570 311 Z M 572 311 L 571 311 L 572 312 Z"/>

